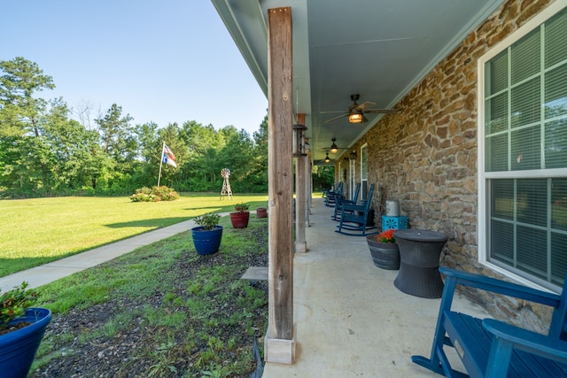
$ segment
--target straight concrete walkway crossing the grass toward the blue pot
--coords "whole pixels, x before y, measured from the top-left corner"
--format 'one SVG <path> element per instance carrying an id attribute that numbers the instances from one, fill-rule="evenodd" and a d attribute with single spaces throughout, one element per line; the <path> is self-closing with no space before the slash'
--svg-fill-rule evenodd
<path id="1" fill-rule="evenodd" d="M 221 213 L 221 216 L 228 215 L 228 212 Z M 37 288 L 46 283 L 53 282 L 67 275 L 80 272 L 91 266 L 97 266 L 105 261 L 117 258 L 125 253 L 136 250 L 147 244 L 158 242 L 169 236 L 190 230 L 196 226 L 193 220 L 186 220 L 166 228 L 159 228 L 154 231 L 146 232 L 142 235 L 130 237 L 120 242 L 111 243 L 98 247 L 94 250 L 79 253 L 68 258 L 62 258 L 43 266 L 36 266 L 15 274 L 0 277 L 0 289 L 3 291 L 12 289 L 21 282 L 27 281 L 30 288 Z"/>

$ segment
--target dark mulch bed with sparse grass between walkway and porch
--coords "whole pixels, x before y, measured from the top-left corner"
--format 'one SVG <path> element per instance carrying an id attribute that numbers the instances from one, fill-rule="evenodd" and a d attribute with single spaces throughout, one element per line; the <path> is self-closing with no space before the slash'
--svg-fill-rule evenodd
<path id="1" fill-rule="evenodd" d="M 265 230 L 257 229 L 252 231 L 253 235 L 258 238 L 261 248 L 266 247 L 267 240 Z M 263 245 L 262 245 L 263 244 Z M 72 310 L 64 314 L 54 314 L 53 320 L 47 328 L 44 341 L 50 337 L 68 334 L 66 342 L 61 342 L 51 353 L 57 358 L 51 359 L 47 365 L 41 366 L 35 372 L 31 372 L 29 377 L 146 377 L 150 376 L 152 367 L 155 367 L 156 359 L 156 336 L 160 333 L 167 332 L 166 327 L 149 327 L 147 320 L 143 316 L 138 317 L 128 324 L 128 328 L 120 330 L 112 337 L 104 335 L 90 338 L 82 341 L 83 334 L 91 332 L 93 329 L 104 329 L 105 323 L 111 320 L 117 312 L 123 309 L 130 309 L 133 312 L 143 312 L 142 309 L 147 306 L 156 308 L 163 307 L 164 296 L 166 293 L 174 293 L 175 296 L 189 297 L 187 293 L 188 282 L 195 277 L 196 272 L 203 266 L 218 266 L 223 264 L 231 264 L 230 258 L 222 251 L 209 256 L 203 256 L 198 259 L 190 258 L 187 251 L 177 261 L 167 274 L 163 276 L 163 289 L 159 289 L 149 297 L 114 297 L 105 303 L 90 306 L 82 310 Z M 251 253 L 250 256 L 242 258 L 244 266 L 268 266 L 268 253 L 257 254 Z M 109 262 L 107 264 L 113 264 Z M 244 272 L 242 272 L 244 273 Z M 230 279 L 223 284 L 226 289 L 233 285 L 234 280 Z M 267 282 L 252 282 L 256 289 L 266 292 L 268 297 Z M 223 289 L 223 288 L 219 288 Z M 174 310 L 175 311 L 175 310 Z M 185 311 L 180 310 L 180 311 Z M 216 319 L 228 319 L 233 312 L 243 311 L 238 307 L 236 299 L 228 303 L 219 304 L 214 309 Z M 254 322 L 258 324 L 257 336 L 260 342 L 261 336 L 266 332 L 268 306 L 265 305 L 260 310 L 253 313 Z M 188 328 L 190 324 L 188 324 Z M 264 328 L 264 329 L 260 329 Z M 102 332 L 101 332 L 102 333 Z M 252 353 L 253 336 L 249 335 L 250 329 L 241 329 L 235 327 L 226 327 L 215 329 L 215 336 L 223 340 L 229 340 L 235 337 L 237 345 L 233 350 L 240 349 L 250 351 Z M 191 354 L 199 349 L 206 348 L 206 342 L 196 341 L 193 351 L 183 350 L 183 335 L 175 335 L 175 340 L 179 346 L 172 349 L 170 355 L 167 355 L 170 361 L 173 361 L 174 368 L 164 373 L 161 369 L 154 376 L 171 376 L 171 377 L 201 377 L 204 376 L 202 368 L 194 369 L 195 361 L 191 359 Z M 154 355 L 151 357 L 151 353 Z M 226 354 L 226 362 L 230 364 L 230 352 Z M 224 354 L 223 354 L 224 357 Z M 256 361 L 250 361 L 250 370 L 248 374 L 256 369 Z M 155 370 L 155 369 L 154 369 Z M 166 369 L 167 370 L 167 369 Z M 229 377 L 248 376 L 245 375 L 223 375 Z"/>

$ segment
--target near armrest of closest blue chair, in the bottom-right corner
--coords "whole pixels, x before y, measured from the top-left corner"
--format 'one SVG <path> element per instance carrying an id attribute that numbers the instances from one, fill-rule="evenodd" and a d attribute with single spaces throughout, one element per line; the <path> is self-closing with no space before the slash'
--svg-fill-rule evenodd
<path id="1" fill-rule="evenodd" d="M 567 363 L 567 342 L 553 339 L 500 320 L 482 320 L 482 326 L 494 336 L 512 343 L 512 348 Z M 497 352 L 497 351 L 494 351 Z"/>

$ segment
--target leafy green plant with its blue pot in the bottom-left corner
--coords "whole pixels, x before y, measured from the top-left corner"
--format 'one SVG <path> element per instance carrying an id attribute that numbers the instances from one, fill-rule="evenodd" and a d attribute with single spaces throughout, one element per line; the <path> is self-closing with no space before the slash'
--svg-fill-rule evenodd
<path id="1" fill-rule="evenodd" d="M 0 374 L 25 377 L 51 320 L 46 308 L 31 307 L 37 293 L 27 282 L 0 296 Z"/>

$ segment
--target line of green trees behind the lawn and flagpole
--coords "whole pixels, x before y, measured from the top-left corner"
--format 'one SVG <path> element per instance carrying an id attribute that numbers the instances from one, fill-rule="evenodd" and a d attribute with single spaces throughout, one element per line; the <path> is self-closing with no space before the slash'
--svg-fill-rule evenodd
<path id="1" fill-rule="evenodd" d="M 55 84 L 34 62 L 2 60 L 0 70 L 0 197 L 129 195 L 157 184 L 164 142 L 177 167 L 162 166 L 161 185 L 220 191 L 228 167 L 233 192 L 268 190 L 268 116 L 252 136 L 195 120 L 132 125 L 118 104 L 91 121 L 89 106 L 38 96 Z M 333 176 L 315 169 L 320 185 Z"/>

